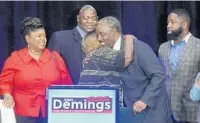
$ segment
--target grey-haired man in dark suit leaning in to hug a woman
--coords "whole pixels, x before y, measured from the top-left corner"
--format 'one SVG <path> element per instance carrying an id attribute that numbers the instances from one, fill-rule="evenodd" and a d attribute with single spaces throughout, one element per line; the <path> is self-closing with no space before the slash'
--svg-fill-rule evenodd
<path id="1" fill-rule="evenodd" d="M 121 32 L 121 24 L 114 17 L 97 22 L 97 38 L 102 45 L 120 50 L 123 47 Z M 172 123 L 163 67 L 146 43 L 134 40 L 133 49 L 133 61 L 120 73 L 126 105 L 132 107 L 135 114 L 146 112 L 144 123 Z"/>

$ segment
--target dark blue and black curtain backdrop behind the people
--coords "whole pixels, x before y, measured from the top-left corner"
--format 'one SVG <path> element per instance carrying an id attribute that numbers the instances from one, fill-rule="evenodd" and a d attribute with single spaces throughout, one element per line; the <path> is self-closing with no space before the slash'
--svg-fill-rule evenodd
<path id="1" fill-rule="evenodd" d="M 185 8 L 192 18 L 191 32 L 200 36 L 200 2 L 196 1 L 7 1 L 0 2 L 0 70 L 13 50 L 26 45 L 19 32 L 19 23 L 26 16 L 37 16 L 44 21 L 47 38 L 54 31 L 72 29 L 76 15 L 85 4 L 94 6 L 99 18 L 117 17 L 124 34 L 134 34 L 148 43 L 157 53 L 166 41 L 167 15 L 172 9 Z"/>

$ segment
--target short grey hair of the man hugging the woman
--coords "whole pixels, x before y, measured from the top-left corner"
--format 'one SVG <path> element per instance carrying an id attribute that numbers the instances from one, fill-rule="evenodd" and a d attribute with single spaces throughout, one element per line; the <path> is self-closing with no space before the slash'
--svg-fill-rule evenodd
<path id="1" fill-rule="evenodd" d="M 111 28 L 115 28 L 118 32 L 122 33 L 122 26 L 119 20 L 113 16 L 107 16 L 99 20 L 100 23 L 106 23 Z"/>

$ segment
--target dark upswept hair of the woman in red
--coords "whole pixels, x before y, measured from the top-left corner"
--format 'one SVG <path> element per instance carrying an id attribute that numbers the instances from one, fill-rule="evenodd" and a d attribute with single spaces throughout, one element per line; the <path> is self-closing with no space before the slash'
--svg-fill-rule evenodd
<path id="1" fill-rule="evenodd" d="M 28 35 L 31 31 L 44 28 L 42 21 L 37 17 L 26 17 L 20 23 L 20 32 L 23 37 Z"/>

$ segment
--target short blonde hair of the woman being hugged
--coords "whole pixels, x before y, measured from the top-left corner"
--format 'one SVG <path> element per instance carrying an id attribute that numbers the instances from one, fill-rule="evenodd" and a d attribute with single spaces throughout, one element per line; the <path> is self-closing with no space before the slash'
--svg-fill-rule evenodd
<path id="1" fill-rule="evenodd" d="M 97 35 L 95 32 L 88 33 L 82 40 L 82 48 L 86 54 L 100 47 L 101 44 L 97 40 Z"/>

